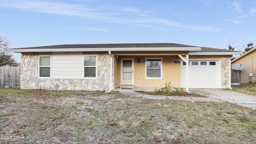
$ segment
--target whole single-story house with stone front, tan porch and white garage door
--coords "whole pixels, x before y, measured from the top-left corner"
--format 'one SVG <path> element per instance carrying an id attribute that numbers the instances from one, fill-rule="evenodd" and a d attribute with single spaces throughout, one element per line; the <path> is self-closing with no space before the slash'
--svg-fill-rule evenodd
<path id="1" fill-rule="evenodd" d="M 173 43 L 70 44 L 21 53 L 22 89 L 230 88 L 230 58 L 241 52 Z M 188 64 L 189 62 L 189 64 Z"/>

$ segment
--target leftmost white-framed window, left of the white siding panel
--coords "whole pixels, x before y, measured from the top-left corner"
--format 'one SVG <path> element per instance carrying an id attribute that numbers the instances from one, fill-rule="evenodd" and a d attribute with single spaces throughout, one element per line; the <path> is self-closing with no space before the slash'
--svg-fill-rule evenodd
<path id="1" fill-rule="evenodd" d="M 50 76 L 51 56 L 39 56 L 39 76 Z"/>

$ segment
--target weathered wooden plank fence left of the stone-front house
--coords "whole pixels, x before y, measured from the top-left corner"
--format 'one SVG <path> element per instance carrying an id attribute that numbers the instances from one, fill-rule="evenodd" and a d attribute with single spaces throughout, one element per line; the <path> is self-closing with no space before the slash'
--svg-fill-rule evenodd
<path id="1" fill-rule="evenodd" d="M 0 66 L 0 88 L 20 87 L 20 66 Z"/>

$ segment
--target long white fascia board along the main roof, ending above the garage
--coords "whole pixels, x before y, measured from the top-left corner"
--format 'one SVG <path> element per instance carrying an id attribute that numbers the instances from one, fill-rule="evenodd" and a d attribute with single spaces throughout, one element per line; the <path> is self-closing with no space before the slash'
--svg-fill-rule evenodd
<path id="1" fill-rule="evenodd" d="M 104 52 L 104 51 L 198 51 L 200 47 L 150 47 L 150 48 L 42 48 L 9 49 L 7 52 Z"/>

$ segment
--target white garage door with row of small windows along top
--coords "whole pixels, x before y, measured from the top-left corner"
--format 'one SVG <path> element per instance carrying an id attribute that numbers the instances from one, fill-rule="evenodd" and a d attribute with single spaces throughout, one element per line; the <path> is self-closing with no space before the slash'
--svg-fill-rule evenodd
<path id="1" fill-rule="evenodd" d="M 186 88 L 186 63 L 182 62 L 182 88 Z M 218 88 L 217 60 L 190 60 L 188 88 Z"/>

